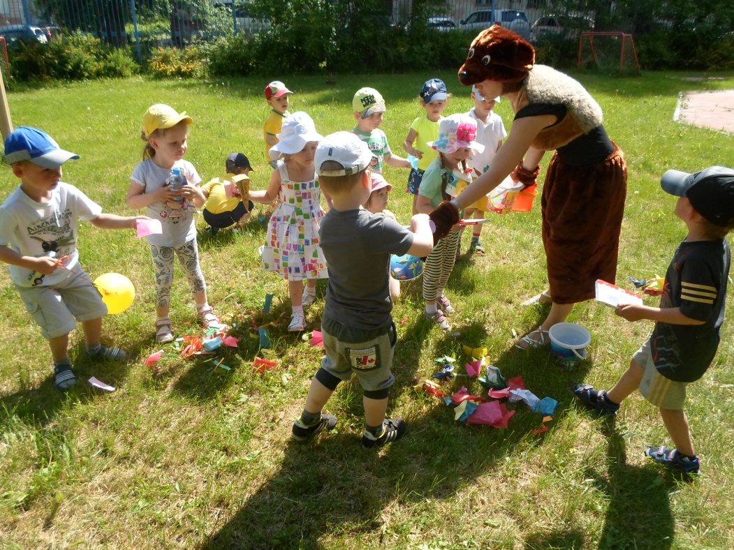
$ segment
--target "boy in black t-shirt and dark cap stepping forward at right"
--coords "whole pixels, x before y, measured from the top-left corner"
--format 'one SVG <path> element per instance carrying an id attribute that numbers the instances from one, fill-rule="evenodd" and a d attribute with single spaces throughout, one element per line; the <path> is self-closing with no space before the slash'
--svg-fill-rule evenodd
<path id="1" fill-rule="evenodd" d="M 734 229 L 734 170 L 711 166 L 688 174 L 668 170 L 662 187 L 680 197 L 675 215 L 688 227 L 665 275 L 660 307 L 619 304 L 628 321 L 655 321 L 650 340 L 632 357 L 628 370 L 608 392 L 576 384 L 573 392 L 603 414 L 617 414 L 619 403 L 639 389 L 660 408 L 675 449 L 647 447 L 645 454 L 671 469 L 696 474 L 696 456 L 683 412 L 686 386 L 706 372 L 719 347 L 730 250 L 726 235 Z"/>

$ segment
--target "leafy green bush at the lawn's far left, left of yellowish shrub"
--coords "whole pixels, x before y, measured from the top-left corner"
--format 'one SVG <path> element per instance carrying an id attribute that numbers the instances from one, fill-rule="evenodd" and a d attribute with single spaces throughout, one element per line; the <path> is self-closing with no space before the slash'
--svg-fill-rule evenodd
<path id="1" fill-rule="evenodd" d="M 8 47 L 8 57 L 18 82 L 125 78 L 139 70 L 128 48 L 113 48 L 81 32 L 48 44 L 18 40 Z"/>

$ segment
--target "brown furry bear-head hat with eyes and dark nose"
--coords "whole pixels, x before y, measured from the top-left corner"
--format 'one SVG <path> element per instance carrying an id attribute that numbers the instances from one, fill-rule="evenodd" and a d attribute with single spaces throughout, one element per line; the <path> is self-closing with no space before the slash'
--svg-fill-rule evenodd
<path id="1" fill-rule="evenodd" d="M 472 40 L 459 81 L 465 86 L 485 80 L 519 82 L 533 68 L 535 50 L 519 34 L 493 25 Z"/>

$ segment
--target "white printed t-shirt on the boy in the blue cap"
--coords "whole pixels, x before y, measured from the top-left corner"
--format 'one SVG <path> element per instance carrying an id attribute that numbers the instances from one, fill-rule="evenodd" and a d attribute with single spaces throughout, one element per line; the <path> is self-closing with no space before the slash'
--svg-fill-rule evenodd
<path id="1" fill-rule="evenodd" d="M 48 202 L 35 202 L 18 186 L 0 206 L 0 246 L 23 256 L 68 256 L 67 269 L 43 275 L 33 269 L 10 265 L 10 279 L 19 287 L 53 286 L 73 276 L 79 268 L 79 219 L 92 220 L 102 207 L 68 183 L 59 182 Z"/>

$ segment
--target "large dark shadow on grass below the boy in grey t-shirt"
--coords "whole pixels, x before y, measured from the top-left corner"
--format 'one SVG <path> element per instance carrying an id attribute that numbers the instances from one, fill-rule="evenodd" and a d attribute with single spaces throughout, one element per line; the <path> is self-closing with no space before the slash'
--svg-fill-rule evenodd
<path id="1" fill-rule="evenodd" d="M 501 462 L 520 437 L 507 432 L 499 445 L 468 445 L 473 430 L 447 438 L 443 413 L 433 410 L 411 421 L 406 435 L 411 444 L 398 441 L 384 450 L 363 450 L 361 434 L 346 431 L 318 436 L 313 443 L 285 443 L 278 472 L 200 548 L 328 548 L 324 537 L 360 540 L 371 548 L 394 544 L 385 530 L 408 526 L 385 524 L 390 502 L 421 505 L 453 496 L 468 479 Z"/>

